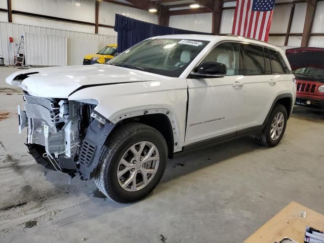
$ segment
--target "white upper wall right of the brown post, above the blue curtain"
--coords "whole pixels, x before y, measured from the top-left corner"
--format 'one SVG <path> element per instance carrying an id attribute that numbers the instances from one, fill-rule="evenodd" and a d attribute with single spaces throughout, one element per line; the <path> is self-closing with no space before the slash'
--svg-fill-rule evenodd
<path id="1" fill-rule="evenodd" d="M 99 24 L 115 25 L 115 14 L 125 15 L 153 24 L 158 23 L 158 16 L 148 11 L 103 1 L 99 2 Z"/>

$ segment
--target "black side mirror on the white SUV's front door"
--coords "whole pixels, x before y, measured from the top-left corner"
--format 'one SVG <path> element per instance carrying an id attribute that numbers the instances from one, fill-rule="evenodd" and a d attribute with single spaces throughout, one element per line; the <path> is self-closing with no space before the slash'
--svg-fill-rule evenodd
<path id="1" fill-rule="evenodd" d="M 192 78 L 215 78 L 224 77 L 226 75 L 226 65 L 220 62 L 203 62 L 196 72 L 191 72 Z"/>

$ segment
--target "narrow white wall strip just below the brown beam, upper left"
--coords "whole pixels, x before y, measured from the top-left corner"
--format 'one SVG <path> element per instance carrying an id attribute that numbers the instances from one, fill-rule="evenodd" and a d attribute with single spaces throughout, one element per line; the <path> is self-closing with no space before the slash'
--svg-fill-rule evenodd
<path id="1" fill-rule="evenodd" d="M 95 26 L 94 25 L 86 25 L 86 24 L 74 24 L 70 22 L 50 20 L 45 18 L 38 17 L 30 17 L 25 15 L 12 15 L 13 23 L 15 24 L 26 24 L 33 26 L 42 26 L 47 28 L 56 28 L 56 29 L 65 29 L 70 31 L 80 31 L 80 32 L 88 32 L 94 33 Z"/>

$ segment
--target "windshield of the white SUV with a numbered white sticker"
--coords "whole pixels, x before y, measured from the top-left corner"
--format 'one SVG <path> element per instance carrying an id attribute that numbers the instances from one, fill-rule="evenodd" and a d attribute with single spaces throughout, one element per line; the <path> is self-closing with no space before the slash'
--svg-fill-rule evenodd
<path id="1" fill-rule="evenodd" d="M 107 64 L 179 77 L 208 43 L 188 39 L 147 39 Z"/>

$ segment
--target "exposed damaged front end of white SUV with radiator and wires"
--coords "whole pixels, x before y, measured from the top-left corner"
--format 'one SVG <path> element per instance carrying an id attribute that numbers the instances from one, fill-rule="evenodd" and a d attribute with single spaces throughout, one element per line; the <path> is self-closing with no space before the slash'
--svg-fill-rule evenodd
<path id="1" fill-rule="evenodd" d="M 41 98 L 27 93 L 24 101 L 24 111 L 18 106 L 19 133 L 27 128 L 26 145 L 30 153 L 36 160 L 41 158 L 44 162 L 45 159 L 51 169 L 74 177 L 79 160 L 93 155 L 81 150 L 89 125 L 94 117 L 99 119 L 94 112 L 95 104 Z"/>

